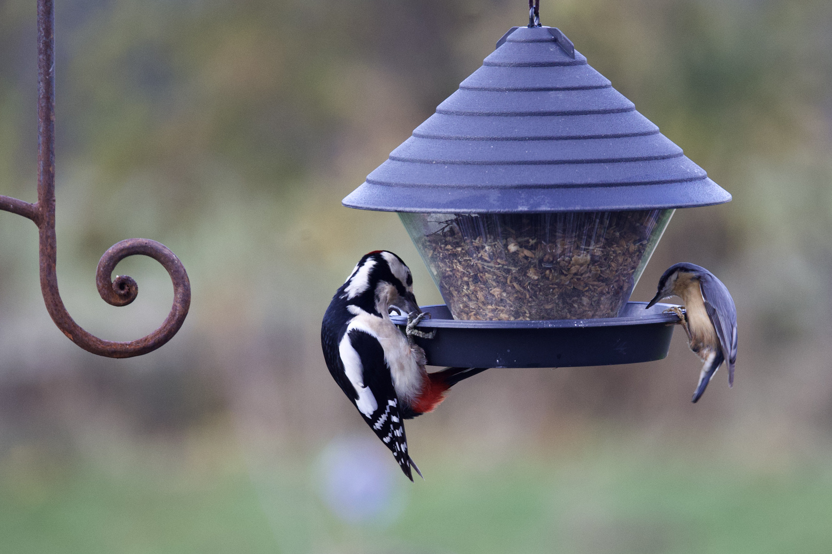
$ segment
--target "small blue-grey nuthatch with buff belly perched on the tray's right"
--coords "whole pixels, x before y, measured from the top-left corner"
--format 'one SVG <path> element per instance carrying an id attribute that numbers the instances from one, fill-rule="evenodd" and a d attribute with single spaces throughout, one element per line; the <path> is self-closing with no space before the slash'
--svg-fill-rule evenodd
<path id="1" fill-rule="evenodd" d="M 685 303 L 685 311 L 671 311 L 679 316 L 691 351 L 705 361 L 693 402 L 700 399 L 723 361 L 728 362 L 728 385 L 734 386 L 736 307 L 726 286 L 705 267 L 677 263 L 661 276 L 658 292 L 647 307 L 666 297 L 681 297 Z"/>

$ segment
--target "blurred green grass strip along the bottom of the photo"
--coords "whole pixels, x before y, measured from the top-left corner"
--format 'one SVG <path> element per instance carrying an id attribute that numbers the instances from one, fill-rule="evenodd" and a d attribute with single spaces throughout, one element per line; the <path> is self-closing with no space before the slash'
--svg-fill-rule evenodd
<path id="1" fill-rule="evenodd" d="M 407 483 L 409 504 L 386 528 L 335 519 L 312 470 L 275 475 L 283 485 L 265 490 L 243 471 L 172 478 L 73 465 L 2 483 L 0 544 L 2 552 L 85 554 L 829 552 L 828 465 L 760 473 L 696 458 L 602 447 L 488 470 L 426 460 L 428 480 Z M 305 524 L 270 522 L 293 514 Z"/>

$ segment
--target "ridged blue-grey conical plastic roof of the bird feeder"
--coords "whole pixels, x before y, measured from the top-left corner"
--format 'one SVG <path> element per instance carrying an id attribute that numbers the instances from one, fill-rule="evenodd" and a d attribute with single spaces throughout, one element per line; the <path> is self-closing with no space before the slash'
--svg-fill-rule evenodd
<path id="1" fill-rule="evenodd" d="M 509 33 L 344 206 L 534 213 L 730 201 L 560 31 Z"/>

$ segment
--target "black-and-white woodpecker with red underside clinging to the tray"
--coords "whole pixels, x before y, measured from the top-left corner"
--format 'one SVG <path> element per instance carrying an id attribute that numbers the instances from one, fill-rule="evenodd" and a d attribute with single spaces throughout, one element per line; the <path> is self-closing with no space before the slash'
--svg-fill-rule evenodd
<path id="1" fill-rule="evenodd" d="M 407 333 L 390 321 L 391 307 L 408 314 Z M 451 386 L 488 369 L 428 373 L 424 351 L 411 339 L 431 337 L 414 328 L 425 315 L 402 258 L 377 250 L 362 257 L 335 292 L 320 329 L 329 373 L 411 481 L 411 466 L 422 472 L 410 458 L 402 419 L 432 411 Z"/>

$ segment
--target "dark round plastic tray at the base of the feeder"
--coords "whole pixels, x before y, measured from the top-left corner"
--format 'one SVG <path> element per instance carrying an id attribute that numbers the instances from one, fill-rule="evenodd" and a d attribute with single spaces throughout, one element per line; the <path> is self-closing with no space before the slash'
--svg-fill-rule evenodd
<path id="1" fill-rule="evenodd" d="M 627 302 L 622 316 L 547 321 L 454 320 L 444 304 L 422 306 L 431 314 L 418 325 L 436 330 L 417 338 L 428 365 L 466 367 L 575 367 L 661 360 L 679 318 L 663 313 L 675 304 Z M 391 316 L 404 329 L 406 316 Z"/>

